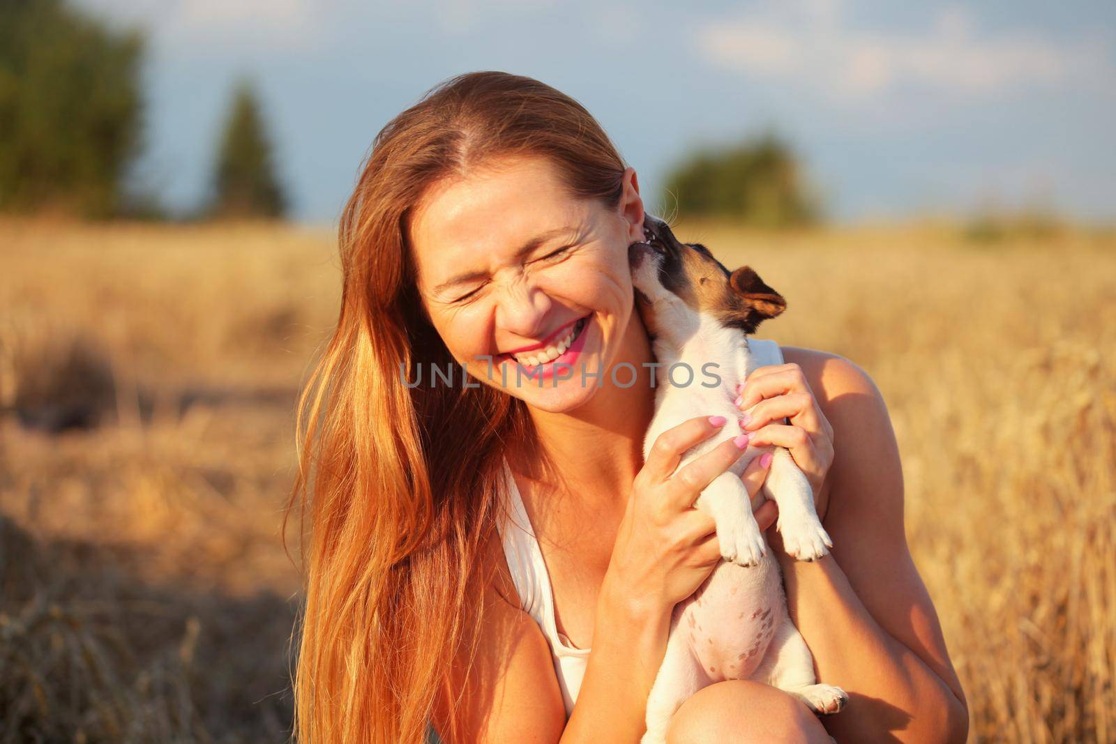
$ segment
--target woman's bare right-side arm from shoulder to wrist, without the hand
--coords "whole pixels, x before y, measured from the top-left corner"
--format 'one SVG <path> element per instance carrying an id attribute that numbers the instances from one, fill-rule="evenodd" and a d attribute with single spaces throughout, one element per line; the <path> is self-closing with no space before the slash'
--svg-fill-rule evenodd
<path id="1" fill-rule="evenodd" d="M 964 693 L 907 549 L 903 472 L 883 397 L 847 359 L 785 352 L 834 429 L 828 499 L 819 502 L 833 553 L 805 563 L 778 551 L 818 678 L 850 696 L 826 728 L 839 742 L 964 742 Z"/>

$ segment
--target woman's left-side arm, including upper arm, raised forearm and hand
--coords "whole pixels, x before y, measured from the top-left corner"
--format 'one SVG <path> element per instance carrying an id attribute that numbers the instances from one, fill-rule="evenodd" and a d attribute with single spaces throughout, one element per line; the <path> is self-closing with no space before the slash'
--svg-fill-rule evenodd
<path id="1" fill-rule="evenodd" d="M 481 628 L 481 653 L 470 679 L 459 673 L 453 680 L 453 693 L 463 690 L 464 741 L 639 741 L 674 606 L 721 561 L 716 524 L 690 504 L 740 457 L 742 444 L 739 437 L 725 439 L 671 474 L 684 452 L 727 423 L 723 416 L 698 416 L 667 429 L 636 475 L 597 597 L 593 651 L 568 723 L 546 640 L 519 609 L 501 547 L 493 541 L 487 555 L 497 572 L 485 591 L 491 611 Z M 761 458 L 753 458 L 741 473 L 749 497 L 766 477 Z M 775 516 L 773 503 L 756 511 L 761 530 Z M 442 722 L 444 709 L 435 713 Z"/>

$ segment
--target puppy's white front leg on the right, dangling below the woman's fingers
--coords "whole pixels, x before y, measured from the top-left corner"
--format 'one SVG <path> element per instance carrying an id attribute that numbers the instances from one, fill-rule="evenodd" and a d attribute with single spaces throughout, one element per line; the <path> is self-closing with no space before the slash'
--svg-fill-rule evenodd
<path id="1" fill-rule="evenodd" d="M 777 529 L 787 554 L 800 561 L 821 558 L 833 540 L 814 509 L 814 490 L 786 447 L 772 452 L 771 471 L 763 481 L 764 493 L 779 504 Z"/>

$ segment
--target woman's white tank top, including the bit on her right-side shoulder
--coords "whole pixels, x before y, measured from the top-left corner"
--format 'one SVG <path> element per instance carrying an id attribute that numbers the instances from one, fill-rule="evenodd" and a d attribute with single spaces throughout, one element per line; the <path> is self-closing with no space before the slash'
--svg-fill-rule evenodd
<path id="1" fill-rule="evenodd" d="M 749 338 L 748 346 L 752 352 L 753 368 L 783 364 L 782 350 L 778 342 Z M 589 661 L 589 649 L 575 648 L 566 634 L 558 631 L 550 574 L 542 560 L 539 541 L 535 537 L 531 520 L 523 508 L 523 499 L 519 494 L 516 479 L 512 477 L 507 462 L 503 464 L 503 472 L 511 494 L 510 523 L 497 525 L 503 542 L 503 554 L 508 559 L 508 569 L 519 593 L 520 608 L 535 619 L 550 646 L 550 656 L 554 659 L 555 674 L 558 676 L 558 686 L 561 688 L 568 718 L 574 709 L 574 702 L 577 700 L 577 693 L 581 688 L 581 678 Z"/>

